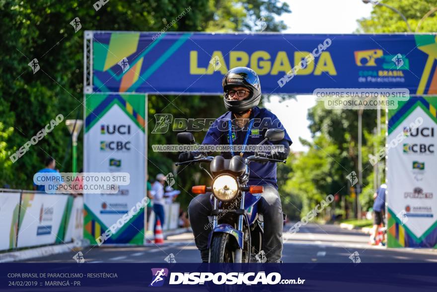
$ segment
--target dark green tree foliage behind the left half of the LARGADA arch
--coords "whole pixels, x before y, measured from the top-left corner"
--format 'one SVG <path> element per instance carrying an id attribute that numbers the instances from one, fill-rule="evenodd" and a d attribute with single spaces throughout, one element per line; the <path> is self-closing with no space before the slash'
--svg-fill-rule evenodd
<path id="1" fill-rule="evenodd" d="M 83 32 L 85 30 L 160 31 L 190 7 L 168 31 L 256 30 L 255 21 L 265 16 L 266 31 L 285 27 L 273 17 L 288 12 L 277 0 L 110 0 L 98 11 L 95 1 L 85 0 L 0 0 L 0 187 L 30 189 L 33 174 L 52 155 L 60 171 L 70 171 L 71 139 L 63 122 L 38 144 L 32 145 L 15 163 L 9 156 L 30 140 L 50 120 L 62 113 L 65 119 L 83 116 Z M 74 33 L 70 22 L 79 17 L 82 28 Z M 27 65 L 37 58 L 35 74 Z M 171 100 L 171 103 L 168 101 Z M 218 117 L 223 111 L 218 97 L 149 96 L 148 144 L 176 144 L 175 133 L 151 135 L 154 113 L 174 117 Z M 196 133 L 201 141 L 205 132 Z M 82 166 L 82 134 L 79 135 L 78 169 Z M 149 153 L 149 173 L 173 170 L 177 154 Z M 64 161 L 66 161 L 64 163 Z M 178 184 L 188 189 L 199 170 L 187 168 Z M 205 179 L 205 178 L 203 178 Z M 180 188 L 178 186 L 178 188 Z M 188 193 L 182 192 L 183 204 Z"/>

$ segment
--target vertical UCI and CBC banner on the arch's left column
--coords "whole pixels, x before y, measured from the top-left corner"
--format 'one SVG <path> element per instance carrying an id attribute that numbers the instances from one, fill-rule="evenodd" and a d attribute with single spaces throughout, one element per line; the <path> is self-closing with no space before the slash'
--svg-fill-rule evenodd
<path id="1" fill-rule="evenodd" d="M 144 206 L 136 206 L 146 196 L 145 107 L 145 94 L 85 95 L 84 172 L 130 174 L 116 194 L 84 194 L 91 244 L 143 244 Z"/>

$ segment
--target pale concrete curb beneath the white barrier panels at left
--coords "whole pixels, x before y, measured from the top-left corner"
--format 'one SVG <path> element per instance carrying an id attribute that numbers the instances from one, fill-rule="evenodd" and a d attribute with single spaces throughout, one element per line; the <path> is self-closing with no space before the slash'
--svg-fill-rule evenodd
<path id="1" fill-rule="evenodd" d="M 0 254 L 0 263 L 28 260 L 32 258 L 39 258 L 39 257 L 50 256 L 50 255 L 72 252 L 72 251 L 77 252 L 79 250 L 82 250 L 82 247 L 78 247 L 73 242 L 60 244 L 60 245 L 30 248 L 26 250 L 12 251 L 8 253 Z"/>

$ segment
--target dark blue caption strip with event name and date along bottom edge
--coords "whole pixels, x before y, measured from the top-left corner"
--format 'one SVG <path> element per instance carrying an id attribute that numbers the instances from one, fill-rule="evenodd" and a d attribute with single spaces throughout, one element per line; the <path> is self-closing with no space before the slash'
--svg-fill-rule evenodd
<path id="1" fill-rule="evenodd" d="M 163 253 L 164 254 L 164 253 Z M 165 254 L 164 254 L 165 255 Z M 84 255 L 86 259 L 86 255 Z M 386 263 L 337 264 L 167 264 L 107 263 L 0 265 L 1 291 L 433 291 L 437 265 Z M 62 287 L 61 287 L 62 286 Z M 115 289 L 112 289 L 115 290 Z"/>

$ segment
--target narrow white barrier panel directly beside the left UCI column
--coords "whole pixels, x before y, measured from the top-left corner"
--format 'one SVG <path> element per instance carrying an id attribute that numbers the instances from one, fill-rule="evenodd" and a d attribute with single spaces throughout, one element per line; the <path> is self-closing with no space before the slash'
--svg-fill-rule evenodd
<path id="1" fill-rule="evenodd" d="M 67 209 L 65 242 L 83 239 L 83 196 L 70 197 L 69 200 L 71 207 Z"/>

